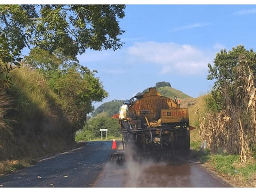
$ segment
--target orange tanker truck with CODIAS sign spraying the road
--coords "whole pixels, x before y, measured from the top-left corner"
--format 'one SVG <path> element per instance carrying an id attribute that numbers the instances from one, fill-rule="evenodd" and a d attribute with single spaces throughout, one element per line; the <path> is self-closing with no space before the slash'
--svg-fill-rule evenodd
<path id="1" fill-rule="evenodd" d="M 123 149 L 110 156 L 123 161 L 125 154 L 133 156 L 172 156 L 189 154 L 190 137 L 188 109 L 180 103 L 161 96 L 156 88 L 126 100 L 127 118 L 120 120 Z"/>

